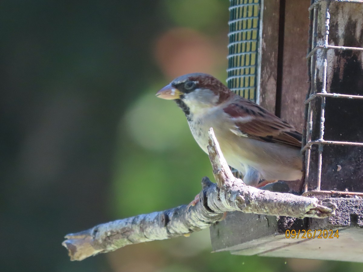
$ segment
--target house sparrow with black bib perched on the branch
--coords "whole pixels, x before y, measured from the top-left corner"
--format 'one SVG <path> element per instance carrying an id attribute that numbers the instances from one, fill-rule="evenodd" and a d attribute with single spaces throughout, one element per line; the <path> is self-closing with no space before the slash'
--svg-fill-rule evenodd
<path id="1" fill-rule="evenodd" d="M 234 94 L 218 79 L 193 73 L 174 79 L 156 96 L 173 99 L 208 154 L 213 128 L 227 163 L 244 174 L 246 185 L 302 177 L 301 133 L 258 104 Z"/>

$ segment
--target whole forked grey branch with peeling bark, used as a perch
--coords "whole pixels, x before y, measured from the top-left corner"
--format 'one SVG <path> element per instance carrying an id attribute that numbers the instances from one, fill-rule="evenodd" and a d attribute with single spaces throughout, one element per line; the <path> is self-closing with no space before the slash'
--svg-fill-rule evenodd
<path id="1" fill-rule="evenodd" d="M 209 129 L 209 159 L 216 184 L 202 180 L 200 201 L 189 210 L 186 205 L 99 224 L 89 230 L 68 234 L 62 245 L 71 260 L 83 260 L 98 253 L 114 251 L 128 244 L 188 235 L 221 220 L 225 211 L 243 211 L 289 217 L 325 218 L 335 215 L 336 206 L 316 198 L 275 193 L 246 186 L 235 178 Z"/>

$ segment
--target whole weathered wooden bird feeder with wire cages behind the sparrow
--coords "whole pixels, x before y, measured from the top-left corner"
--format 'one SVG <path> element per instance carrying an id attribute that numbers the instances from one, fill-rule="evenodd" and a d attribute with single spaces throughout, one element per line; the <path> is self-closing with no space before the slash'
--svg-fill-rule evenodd
<path id="1" fill-rule="evenodd" d="M 230 2 L 228 87 L 303 130 L 303 180 L 270 189 L 338 208 L 229 213 L 210 228 L 213 250 L 363 262 L 363 1 Z"/>

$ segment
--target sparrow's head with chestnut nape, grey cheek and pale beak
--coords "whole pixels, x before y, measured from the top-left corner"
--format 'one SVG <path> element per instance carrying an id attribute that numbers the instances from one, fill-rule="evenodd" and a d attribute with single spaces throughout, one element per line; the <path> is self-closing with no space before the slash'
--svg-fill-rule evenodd
<path id="1" fill-rule="evenodd" d="M 163 99 L 174 99 L 186 115 L 216 106 L 227 100 L 233 93 L 215 77 L 193 73 L 175 78 L 156 93 Z"/>

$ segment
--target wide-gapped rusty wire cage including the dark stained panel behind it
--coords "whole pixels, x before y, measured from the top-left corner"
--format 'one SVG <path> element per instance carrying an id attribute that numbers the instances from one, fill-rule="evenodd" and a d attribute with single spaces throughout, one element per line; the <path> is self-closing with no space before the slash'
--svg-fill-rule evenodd
<path id="1" fill-rule="evenodd" d="M 304 194 L 363 195 L 363 1 L 309 11 Z"/>

